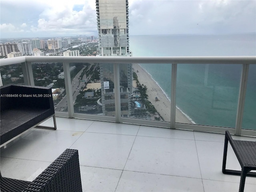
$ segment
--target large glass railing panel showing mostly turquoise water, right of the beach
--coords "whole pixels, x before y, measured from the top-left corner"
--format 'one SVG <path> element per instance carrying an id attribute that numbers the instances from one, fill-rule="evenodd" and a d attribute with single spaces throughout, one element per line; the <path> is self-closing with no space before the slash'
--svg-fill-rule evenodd
<path id="1" fill-rule="evenodd" d="M 178 64 L 176 122 L 234 128 L 241 72 L 239 64 Z"/>

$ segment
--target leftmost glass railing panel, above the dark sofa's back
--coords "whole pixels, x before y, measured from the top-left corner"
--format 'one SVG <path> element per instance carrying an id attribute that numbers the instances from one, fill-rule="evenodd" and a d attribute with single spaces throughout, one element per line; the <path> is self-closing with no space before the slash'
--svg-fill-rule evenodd
<path id="1" fill-rule="evenodd" d="M 12 64 L 1 66 L 1 75 L 3 85 L 6 84 L 24 84 L 24 77 L 21 64 Z"/>

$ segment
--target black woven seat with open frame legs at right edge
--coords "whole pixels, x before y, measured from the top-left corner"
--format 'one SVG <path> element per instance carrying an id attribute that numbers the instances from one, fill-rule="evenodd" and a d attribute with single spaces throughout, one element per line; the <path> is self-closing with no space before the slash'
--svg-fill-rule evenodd
<path id="1" fill-rule="evenodd" d="M 228 141 L 236 154 L 242 171 L 226 169 Z M 222 172 L 224 174 L 241 175 L 239 192 L 243 192 L 246 176 L 256 177 L 256 172 L 250 172 L 251 170 L 256 170 L 256 141 L 233 140 L 230 133 L 226 131 Z"/>

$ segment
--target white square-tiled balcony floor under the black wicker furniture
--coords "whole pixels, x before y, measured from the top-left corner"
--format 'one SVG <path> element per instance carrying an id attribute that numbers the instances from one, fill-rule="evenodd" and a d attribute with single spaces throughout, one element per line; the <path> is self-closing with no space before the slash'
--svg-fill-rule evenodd
<path id="1" fill-rule="evenodd" d="M 66 148 L 78 149 L 83 191 L 236 192 L 240 176 L 221 172 L 224 134 L 56 118 L 1 152 L 4 177 L 32 181 Z M 52 120 L 43 123 L 53 126 Z M 250 137 L 235 137 L 256 140 Z M 229 147 L 227 168 L 240 170 Z M 247 177 L 245 192 L 256 192 Z"/>

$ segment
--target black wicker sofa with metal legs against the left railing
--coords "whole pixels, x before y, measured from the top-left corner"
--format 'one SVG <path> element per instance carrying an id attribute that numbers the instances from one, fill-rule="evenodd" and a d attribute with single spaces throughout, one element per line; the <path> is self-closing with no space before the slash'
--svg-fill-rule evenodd
<path id="1" fill-rule="evenodd" d="M 51 88 L 18 84 L 0 87 L 0 147 L 50 117 L 56 130 Z"/>

